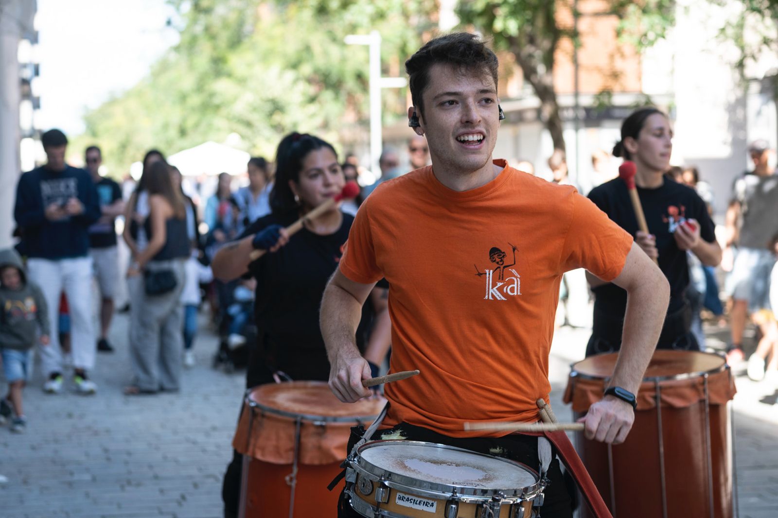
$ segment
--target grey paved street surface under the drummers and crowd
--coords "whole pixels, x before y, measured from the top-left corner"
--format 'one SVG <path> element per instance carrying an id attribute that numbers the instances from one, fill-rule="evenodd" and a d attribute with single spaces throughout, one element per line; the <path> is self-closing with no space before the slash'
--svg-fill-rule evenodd
<path id="1" fill-rule="evenodd" d="M 117 317 L 113 355 L 100 355 L 100 391 L 48 396 L 36 377 L 26 390 L 25 435 L 0 429 L 0 516 L 4 518 L 219 518 L 221 478 L 230 459 L 244 373 L 210 367 L 216 338 L 205 314 L 198 366 L 180 394 L 126 397 L 127 317 Z M 709 330 L 711 331 L 711 330 Z M 720 330 L 712 330 L 716 334 Z M 569 365 L 583 358 L 589 332 L 562 327 L 551 359 L 552 404 L 561 419 Z M 712 341 L 714 346 L 720 343 Z M 741 518 L 778 516 L 778 405 L 773 393 L 738 377 L 734 401 Z M 760 401 L 764 400 L 764 401 Z"/>

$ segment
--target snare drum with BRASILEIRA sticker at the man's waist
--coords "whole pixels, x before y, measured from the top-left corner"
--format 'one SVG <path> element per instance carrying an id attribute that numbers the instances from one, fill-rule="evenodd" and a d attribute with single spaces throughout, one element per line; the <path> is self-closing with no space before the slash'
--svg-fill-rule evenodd
<path id="1" fill-rule="evenodd" d="M 531 518 L 541 495 L 524 464 L 454 446 L 379 440 L 349 459 L 345 492 L 374 518 Z"/>

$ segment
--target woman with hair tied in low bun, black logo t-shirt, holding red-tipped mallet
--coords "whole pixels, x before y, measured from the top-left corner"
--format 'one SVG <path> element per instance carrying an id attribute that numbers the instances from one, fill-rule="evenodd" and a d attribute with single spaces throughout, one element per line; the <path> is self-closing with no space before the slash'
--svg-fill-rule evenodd
<path id="1" fill-rule="evenodd" d="M 635 243 L 649 257 L 657 259 L 670 282 L 670 306 L 657 348 L 696 351 L 699 345 L 690 331 L 691 308 L 684 296 L 689 285 L 686 254 L 691 252 L 703 264 L 715 266 L 721 261 L 721 248 L 705 202 L 693 189 L 664 175 L 670 165 L 672 138 L 668 116 L 656 108 L 642 108 L 626 118 L 622 139 L 613 149 L 614 156 L 635 163 L 635 184 L 649 233 L 638 229 L 629 192 L 621 178 L 594 187 L 589 198 L 622 229 L 635 236 Z M 595 300 L 594 324 L 586 354 L 618 351 L 626 292 L 588 272 L 587 278 Z"/>

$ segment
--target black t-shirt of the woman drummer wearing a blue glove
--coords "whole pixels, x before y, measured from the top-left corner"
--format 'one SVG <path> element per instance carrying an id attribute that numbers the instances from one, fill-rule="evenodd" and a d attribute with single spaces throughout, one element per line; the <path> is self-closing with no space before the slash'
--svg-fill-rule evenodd
<path id="1" fill-rule="evenodd" d="M 271 225 L 289 226 L 297 217 L 266 215 L 248 226 L 239 239 Z M 319 328 L 319 307 L 324 287 L 338 268 L 352 222 L 353 216 L 344 213 L 340 228 L 328 236 L 303 227 L 285 247 L 249 265 L 249 273 L 257 279 L 254 313 L 258 344 L 248 367 L 247 387 L 267 383 L 275 370 L 293 380 L 328 380 L 330 364 Z M 360 350 L 372 316 L 367 301 L 356 334 Z"/>

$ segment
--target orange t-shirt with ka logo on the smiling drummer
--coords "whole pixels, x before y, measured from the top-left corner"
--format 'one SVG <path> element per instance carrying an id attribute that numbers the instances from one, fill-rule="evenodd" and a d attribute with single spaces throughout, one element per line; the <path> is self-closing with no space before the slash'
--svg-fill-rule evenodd
<path id="1" fill-rule="evenodd" d="M 548 398 L 548 353 L 562 273 L 610 281 L 632 236 L 573 187 L 495 160 L 488 184 L 457 192 L 431 166 L 384 182 L 357 212 L 339 268 L 355 282 L 389 282 L 391 372 L 384 424 L 447 436 L 464 422 L 537 421 Z"/>

